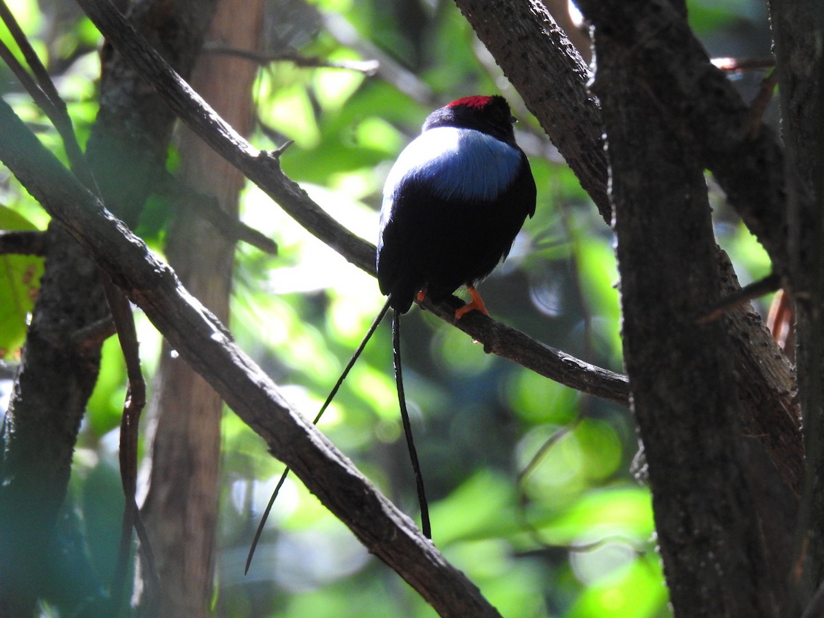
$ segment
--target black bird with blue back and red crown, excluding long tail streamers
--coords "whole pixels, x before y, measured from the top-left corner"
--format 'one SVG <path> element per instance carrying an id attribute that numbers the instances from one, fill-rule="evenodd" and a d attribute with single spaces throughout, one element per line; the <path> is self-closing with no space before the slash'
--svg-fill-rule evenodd
<path id="1" fill-rule="evenodd" d="M 506 258 L 536 185 L 503 96 L 466 96 L 434 110 L 400 152 L 383 189 L 377 281 L 403 314 L 466 285 L 460 319 L 487 313 L 475 285 Z"/>

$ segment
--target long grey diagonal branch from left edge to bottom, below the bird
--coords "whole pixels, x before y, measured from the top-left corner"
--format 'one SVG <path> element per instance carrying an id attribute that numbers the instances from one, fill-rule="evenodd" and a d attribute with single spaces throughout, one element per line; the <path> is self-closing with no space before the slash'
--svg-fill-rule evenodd
<path id="1" fill-rule="evenodd" d="M 442 616 L 498 616 L 232 341 L 137 236 L 57 161 L 0 101 L 0 160 L 312 493 Z"/>

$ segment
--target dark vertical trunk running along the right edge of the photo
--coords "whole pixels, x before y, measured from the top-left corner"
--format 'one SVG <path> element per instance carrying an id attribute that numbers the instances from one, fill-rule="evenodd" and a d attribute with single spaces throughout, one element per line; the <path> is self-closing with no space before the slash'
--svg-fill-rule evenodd
<path id="1" fill-rule="evenodd" d="M 815 0 L 772 0 L 786 147 L 790 272 L 794 294 L 798 400 L 803 410 L 806 477 L 798 517 L 794 583 L 811 615 L 824 612 L 824 10 Z"/>

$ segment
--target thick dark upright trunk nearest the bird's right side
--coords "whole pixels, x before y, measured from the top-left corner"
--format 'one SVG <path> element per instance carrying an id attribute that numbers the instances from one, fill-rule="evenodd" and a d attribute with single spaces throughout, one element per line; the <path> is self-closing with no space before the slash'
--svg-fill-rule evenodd
<path id="1" fill-rule="evenodd" d="M 691 319 L 720 297 L 703 169 L 609 32 L 595 32 L 593 87 L 610 159 L 625 366 L 672 606 L 685 616 L 768 616 L 775 574 L 747 456 L 763 452 L 741 438 L 727 329 Z"/>

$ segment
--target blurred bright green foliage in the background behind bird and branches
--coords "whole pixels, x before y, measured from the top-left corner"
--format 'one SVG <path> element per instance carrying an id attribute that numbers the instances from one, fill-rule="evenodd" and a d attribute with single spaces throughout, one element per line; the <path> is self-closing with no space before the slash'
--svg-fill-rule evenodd
<path id="1" fill-rule="evenodd" d="M 293 46 L 335 61 L 380 55 L 383 68 L 373 77 L 288 62 L 260 68 L 255 85 L 260 131 L 252 136 L 260 148 L 293 139 L 296 144 L 283 155 L 288 175 L 370 241 L 377 236 L 386 172 L 429 110 L 458 96 L 496 91 L 503 91 L 514 109 L 524 109 L 449 2 L 270 4 L 273 50 Z M 769 54 L 761 3 L 688 4 L 712 54 Z M 96 114 L 96 31 L 68 0 L 15 0 L 11 6 L 54 73 L 85 143 Z M 7 40 L 7 33 L 0 39 Z M 0 77 L 2 95 L 60 153 L 54 130 L 6 68 L 0 67 Z M 731 76 L 750 89 L 760 77 Z M 545 139 L 534 119 L 520 115 L 522 143 Z M 485 300 L 494 316 L 536 339 L 620 371 L 611 233 L 569 169 L 530 154 L 537 213 L 507 262 L 483 284 Z M 171 152 L 170 166 L 175 165 Z M 311 418 L 382 297 L 371 277 L 260 191 L 247 188 L 242 203 L 244 220 L 272 236 L 280 253 L 238 248 L 232 330 Z M 742 280 L 763 276 L 769 266 L 763 251 L 717 194 L 714 209 L 719 241 Z M 0 227 L 44 229 L 47 221 L 0 169 Z M 167 221 L 168 204 L 152 199 L 138 232 L 155 250 L 162 250 Z M 0 265 L 0 349 L 13 357 L 42 267 L 25 256 L 0 256 Z M 143 316 L 138 329 L 143 366 L 151 376 L 159 339 Z M 385 324 L 377 331 L 321 428 L 414 516 L 414 481 L 401 437 L 388 330 Z M 403 353 L 433 540 L 504 616 L 668 615 L 648 489 L 630 473 L 637 442 L 627 410 L 485 355 L 466 335 L 417 309 L 405 316 Z M 82 532 L 86 541 L 80 551 L 91 556 L 88 564 L 95 570 L 84 590 L 105 586 L 114 562 L 122 508 L 115 456 L 124 382 L 124 363 L 110 341 L 66 505 L 65 520 L 73 531 L 66 536 Z M 8 380 L 0 382 L 3 404 L 10 388 Z M 231 412 L 223 425 L 218 615 L 433 616 L 294 478 L 275 503 L 250 574 L 243 577 L 252 533 L 283 466 Z M 69 616 L 76 603 L 71 595 L 55 594 L 43 612 Z"/>

